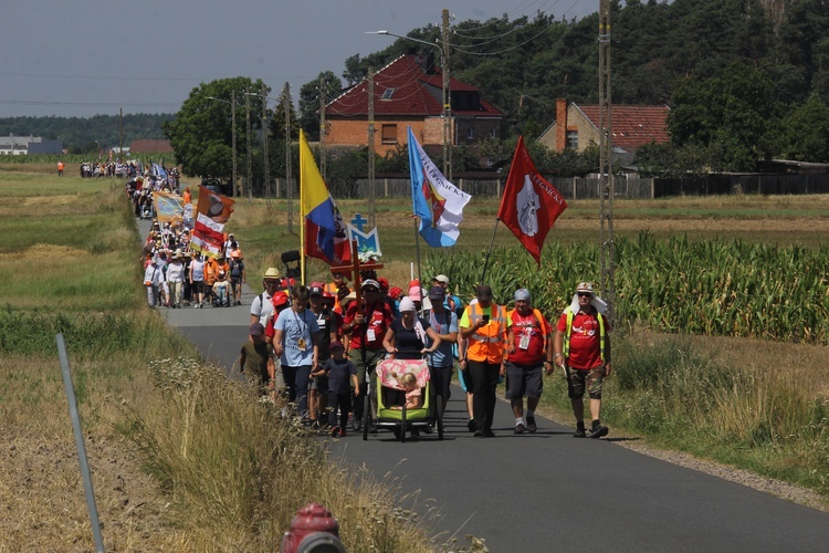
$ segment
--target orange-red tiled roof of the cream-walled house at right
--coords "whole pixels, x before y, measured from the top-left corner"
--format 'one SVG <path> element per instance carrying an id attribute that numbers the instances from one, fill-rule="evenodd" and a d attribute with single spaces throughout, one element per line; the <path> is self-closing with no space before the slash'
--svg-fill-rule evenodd
<path id="1" fill-rule="evenodd" d="M 590 123 L 599 127 L 599 106 L 575 104 Z M 611 105 L 610 131 L 615 146 L 638 147 L 655 142 L 664 144 L 668 134 L 668 114 L 664 105 Z"/>

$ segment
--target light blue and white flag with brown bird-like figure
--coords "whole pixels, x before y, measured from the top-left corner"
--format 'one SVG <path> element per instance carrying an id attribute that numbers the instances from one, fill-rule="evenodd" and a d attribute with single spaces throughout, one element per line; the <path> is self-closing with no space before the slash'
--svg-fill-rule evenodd
<path id="1" fill-rule="evenodd" d="M 432 248 L 454 246 L 461 233 L 458 226 L 463 220 L 463 208 L 472 196 L 445 179 L 420 147 L 411 127 L 409 170 L 412 208 L 420 218 L 420 236 Z"/>

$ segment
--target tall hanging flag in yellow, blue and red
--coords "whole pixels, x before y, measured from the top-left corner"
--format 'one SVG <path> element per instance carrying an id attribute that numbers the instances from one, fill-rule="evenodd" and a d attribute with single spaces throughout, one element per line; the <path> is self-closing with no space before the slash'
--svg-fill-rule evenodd
<path id="1" fill-rule="evenodd" d="M 305 255 L 329 265 L 351 261 L 343 216 L 314 161 L 305 133 L 300 131 L 300 211 L 305 219 Z"/>

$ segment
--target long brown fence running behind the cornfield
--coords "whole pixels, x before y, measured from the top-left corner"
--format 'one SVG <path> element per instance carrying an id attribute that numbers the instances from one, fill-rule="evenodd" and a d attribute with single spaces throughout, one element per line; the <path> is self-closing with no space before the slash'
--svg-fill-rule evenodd
<path id="1" fill-rule="evenodd" d="M 454 185 L 473 197 L 501 197 L 506 176 L 497 179 L 458 176 Z M 552 178 L 549 181 L 565 199 L 599 198 L 601 182 L 597 177 Z M 293 197 L 298 199 L 296 180 L 292 179 Z M 411 181 L 403 177 L 375 179 L 377 198 L 402 198 L 411 195 Z M 793 195 L 829 194 L 829 174 L 818 175 L 711 175 L 688 178 L 643 178 L 631 175 L 615 177 L 616 198 L 653 199 L 670 196 L 727 196 L 731 194 Z M 285 179 L 276 179 L 276 197 L 285 198 Z M 368 198 L 368 179 L 357 178 L 349 185 L 332 185 L 337 199 Z"/>

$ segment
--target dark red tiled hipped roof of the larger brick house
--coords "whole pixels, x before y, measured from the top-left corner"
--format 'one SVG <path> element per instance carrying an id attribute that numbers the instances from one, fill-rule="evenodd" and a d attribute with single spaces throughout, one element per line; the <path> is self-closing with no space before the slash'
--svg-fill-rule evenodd
<path id="1" fill-rule="evenodd" d="M 439 69 L 427 73 L 426 58 L 403 54 L 374 76 L 376 116 L 440 116 L 443 112 L 443 75 Z M 450 76 L 451 91 L 475 92 L 479 88 Z M 384 98 L 388 95 L 388 98 Z M 503 117 L 503 113 L 481 100 L 481 109 L 458 111 L 457 115 L 486 115 Z M 326 116 L 368 115 L 368 82 L 363 81 L 348 88 L 325 108 Z"/>

